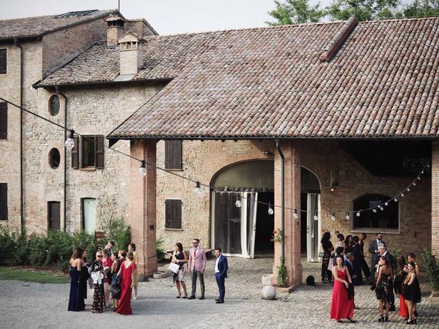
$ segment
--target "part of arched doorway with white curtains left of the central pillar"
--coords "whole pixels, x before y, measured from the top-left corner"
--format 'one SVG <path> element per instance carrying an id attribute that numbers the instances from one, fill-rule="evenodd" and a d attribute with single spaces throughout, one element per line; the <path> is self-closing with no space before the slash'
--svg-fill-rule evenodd
<path id="1" fill-rule="evenodd" d="M 211 182 L 212 245 L 228 256 L 272 256 L 274 161 L 250 160 L 218 171 Z M 264 202 L 265 204 L 258 203 Z"/>

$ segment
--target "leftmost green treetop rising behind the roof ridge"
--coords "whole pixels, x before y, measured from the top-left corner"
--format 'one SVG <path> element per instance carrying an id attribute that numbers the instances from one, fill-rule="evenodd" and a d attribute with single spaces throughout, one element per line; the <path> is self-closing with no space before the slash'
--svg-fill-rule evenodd
<path id="1" fill-rule="evenodd" d="M 288 25 L 296 23 L 316 23 L 325 12 L 317 5 L 309 5 L 309 0 L 274 1 L 276 9 L 268 12 L 276 21 L 266 22 L 268 25 Z"/>

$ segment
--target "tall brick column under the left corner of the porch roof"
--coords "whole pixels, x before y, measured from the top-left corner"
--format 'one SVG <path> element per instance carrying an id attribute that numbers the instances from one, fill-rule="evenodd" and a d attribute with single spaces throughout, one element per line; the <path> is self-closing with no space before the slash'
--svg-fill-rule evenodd
<path id="1" fill-rule="evenodd" d="M 130 154 L 147 163 L 156 163 L 156 141 L 132 141 Z M 157 271 L 156 257 L 156 169 L 146 166 L 146 175 L 139 173 L 141 163 L 130 161 L 130 225 L 131 241 L 139 256 L 139 280 Z"/>

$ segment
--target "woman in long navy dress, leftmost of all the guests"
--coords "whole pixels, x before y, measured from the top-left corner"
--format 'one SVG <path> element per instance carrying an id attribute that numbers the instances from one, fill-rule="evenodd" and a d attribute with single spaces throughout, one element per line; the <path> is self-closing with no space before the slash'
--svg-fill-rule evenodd
<path id="1" fill-rule="evenodd" d="M 68 310 L 73 310 L 74 312 L 85 310 L 84 297 L 82 296 L 83 294 L 80 289 L 80 273 L 82 269 L 83 252 L 84 251 L 81 248 L 76 249 L 71 256 L 69 263 L 71 280 Z"/>

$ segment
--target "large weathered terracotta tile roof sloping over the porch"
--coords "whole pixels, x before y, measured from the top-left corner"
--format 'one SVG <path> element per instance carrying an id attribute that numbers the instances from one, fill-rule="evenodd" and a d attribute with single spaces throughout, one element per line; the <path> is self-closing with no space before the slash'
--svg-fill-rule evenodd
<path id="1" fill-rule="evenodd" d="M 439 19 L 358 23 L 321 61 L 344 27 L 148 37 L 133 79 L 173 80 L 109 138 L 438 136 Z M 112 81 L 117 51 L 97 45 L 43 84 Z"/>

